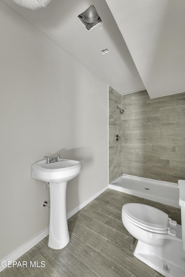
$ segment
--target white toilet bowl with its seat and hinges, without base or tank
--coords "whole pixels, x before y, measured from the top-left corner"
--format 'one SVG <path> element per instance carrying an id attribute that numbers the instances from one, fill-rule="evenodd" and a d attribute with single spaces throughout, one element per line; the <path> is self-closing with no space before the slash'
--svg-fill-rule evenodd
<path id="1" fill-rule="evenodd" d="M 166 239 L 182 242 L 174 228 L 177 222 L 154 207 L 138 203 L 125 204 L 122 208 L 122 221 L 133 237 L 146 244 L 163 246 Z"/>

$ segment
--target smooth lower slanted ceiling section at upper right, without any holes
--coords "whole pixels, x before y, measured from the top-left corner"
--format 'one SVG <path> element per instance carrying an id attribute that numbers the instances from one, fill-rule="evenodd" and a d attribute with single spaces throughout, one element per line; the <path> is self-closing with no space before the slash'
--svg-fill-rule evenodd
<path id="1" fill-rule="evenodd" d="M 106 2 L 150 98 L 185 91 L 185 1 Z"/>

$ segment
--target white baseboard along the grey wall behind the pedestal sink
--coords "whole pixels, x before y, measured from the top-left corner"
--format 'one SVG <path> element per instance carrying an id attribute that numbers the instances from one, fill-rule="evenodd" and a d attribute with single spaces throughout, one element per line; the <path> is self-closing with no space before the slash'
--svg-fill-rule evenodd
<path id="1" fill-rule="evenodd" d="M 97 196 L 99 196 L 101 193 L 103 193 L 105 190 L 109 188 L 109 185 L 102 188 L 99 192 L 92 195 L 89 199 L 84 201 L 82 204 L 80 204 L 78 207 L 73 209 L 71 212 L 67 214 L 67 219 L 69 219 L 71 216 L 79 212 L 83 207 L 85 207 L 88 203 L 90 203 L 92 200 L 94 200 Z M 5 269 L 6 267 L 1 266 L 2 261 L 16 261 L 19 257 L 21 257 L 23 254 L 25 254 L 28 250 L 30 250 L 32 247 L 34 247 L 38 242 L 40 242 L 42 239 L 47 237 L 49 235 L 49 227 L 42 231 L 40 234 L 36 235 L 34 238 L 30 239 L 28 242 L 23 244 L 21 247 L 19 247 L 17 250 L 12 252 L 10 255 L 5 257 L 3 260 L 0 261 L 0 272 Z"/>

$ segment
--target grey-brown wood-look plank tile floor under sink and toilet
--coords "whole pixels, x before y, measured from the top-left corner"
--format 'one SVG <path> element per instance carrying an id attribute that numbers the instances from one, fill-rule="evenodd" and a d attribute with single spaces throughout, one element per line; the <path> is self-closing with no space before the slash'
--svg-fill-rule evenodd
<path id="1" fill-rule="evenodd" d="M 68 220 L 70 242 L 62 250 L 42 239 L 17 261 L 45 261 L 45 267 L 9 267 L 0 277 L 160 277 L 133 255 L 135 239 L 121 221 L 122 206 L 143 203 L 181 224 L 180 209 L 108 189 Z"/>

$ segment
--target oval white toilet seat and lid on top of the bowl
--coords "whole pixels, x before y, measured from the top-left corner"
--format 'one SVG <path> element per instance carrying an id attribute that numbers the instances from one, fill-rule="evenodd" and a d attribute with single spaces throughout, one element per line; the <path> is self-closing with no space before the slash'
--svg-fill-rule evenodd
<path id="1" fill-rule="evenodd" d="M 139 203 L 127 203 L 123 205 L 122 213 L 142 229 L 154 233 L 168 233 L 169 217 L 159 209 Z"/>

